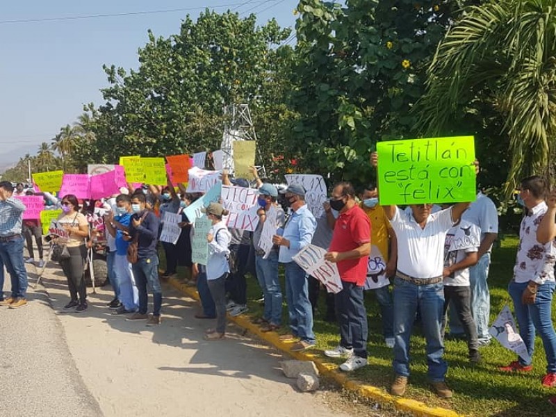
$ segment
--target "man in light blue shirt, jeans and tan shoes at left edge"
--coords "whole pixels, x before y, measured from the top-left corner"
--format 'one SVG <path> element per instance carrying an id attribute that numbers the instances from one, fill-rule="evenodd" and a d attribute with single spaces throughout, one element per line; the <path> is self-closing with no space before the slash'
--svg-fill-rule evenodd
<path id="1" fill-rule="evenodd" d="M 22 236 L 25 209 L 22 201 L 13 197 L 12 183 L 0 181 L 0 256 L 12 281 L 11 297 L 1 300 L 0 305 L 10 306 L 10 309 L 27 305 L 27 271 L 23 259 Z M 1 290 L 2 288 L 0 293 Z"/>

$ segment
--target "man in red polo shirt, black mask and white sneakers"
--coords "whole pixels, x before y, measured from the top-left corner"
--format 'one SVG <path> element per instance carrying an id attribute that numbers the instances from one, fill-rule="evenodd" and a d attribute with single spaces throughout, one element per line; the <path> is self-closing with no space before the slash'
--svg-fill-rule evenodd
<path id="1" fill-rule="evenodd" d="M 355 191 L 348 182 L 332 191 L 330 206 L 340 214 L 325 259 L 337 263 L 343 289 L 334 297 L 340 325 L 340 345 L 326 350 L 327 357 L 347 357 L 340 369 L 351 371 L 367 364 L 367 312 L 363 284 L 370 254 L 370 221 L 356 204 Z"/>

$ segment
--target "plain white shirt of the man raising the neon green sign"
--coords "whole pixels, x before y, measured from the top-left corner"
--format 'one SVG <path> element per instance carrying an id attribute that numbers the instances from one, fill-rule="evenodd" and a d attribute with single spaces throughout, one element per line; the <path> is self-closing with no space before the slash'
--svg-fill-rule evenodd
<path id="1" fill-rule="evenodd" d="M 453 226 L 452 209 L 433 213 L 421 229 L 413 213 L 395 208 L 390 221 L 398 238 L 398 270 L 414 278 L 441 277 L 444 269 L 444 241 Z"/>

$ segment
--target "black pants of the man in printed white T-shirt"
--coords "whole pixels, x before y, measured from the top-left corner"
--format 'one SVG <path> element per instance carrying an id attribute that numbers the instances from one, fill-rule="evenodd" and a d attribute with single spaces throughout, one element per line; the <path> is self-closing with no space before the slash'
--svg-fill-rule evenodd
<path id="1" fill-rule="evenodd" d="M 471 287 L 469 286 L 444 286 L 444 316 L 442 320 L 441 335 L 444 336 L 448 316 L 448 304 L 452 300 L 452 306 L 456 309 L 457 317 L 464 328 L 467 337 L 469 354 L 475 354 L 479 348 L 477 342 L 477 326 L 471 315 Z"/>

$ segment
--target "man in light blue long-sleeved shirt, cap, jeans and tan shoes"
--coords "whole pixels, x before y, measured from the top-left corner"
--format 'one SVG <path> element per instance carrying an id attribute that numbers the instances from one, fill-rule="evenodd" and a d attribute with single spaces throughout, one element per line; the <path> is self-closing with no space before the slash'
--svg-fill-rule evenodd
<path id="1" fill-rule="evenodd" d="M 303 186 L 291 183 L 284 194 L 292 213 L 283 233 L 273 236 L 272 243 L 279 245 L 278 261 L 284 263 L 286 268 L 286 300 L 292 334 L 280 336 L 280 340 L 294 341 L 299 338 L 291 347 L 291 351 L 301 352 L 315 345 L 315 334 L 307 276 L 300 265 L 293 261 L 293 256 L 311 244 L 317 222 L 305 203 Z"/>

